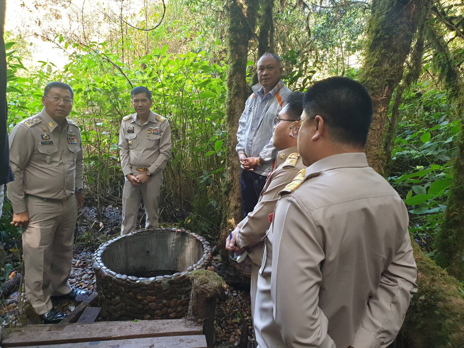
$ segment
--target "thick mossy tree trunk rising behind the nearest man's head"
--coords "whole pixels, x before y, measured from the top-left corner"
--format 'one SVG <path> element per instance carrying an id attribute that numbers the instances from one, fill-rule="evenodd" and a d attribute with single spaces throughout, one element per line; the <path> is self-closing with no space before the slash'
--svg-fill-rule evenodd
<path id="1" fill-rule="evenodd" d="M 373 0 L 367 22 L 367 50 L 360 82 L 372 97 L 374 117 L 365 151 L 370 166 L 382 175 L 386 165 L 382 137 L 388 108 L 393 90 L 403 76 L 403 65 L 425 1 Z"/>

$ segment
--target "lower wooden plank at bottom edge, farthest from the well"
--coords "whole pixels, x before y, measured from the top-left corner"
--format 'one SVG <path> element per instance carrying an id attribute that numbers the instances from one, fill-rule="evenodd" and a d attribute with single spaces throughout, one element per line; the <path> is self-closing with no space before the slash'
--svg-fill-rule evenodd
<path id="1" fill-rule="evenodd" d="M 204 335 L 174 337 L 133 338 L 129 340 L 93 341 L 87 343 L 66 343 L 25 348 L 207 348 Z"/>

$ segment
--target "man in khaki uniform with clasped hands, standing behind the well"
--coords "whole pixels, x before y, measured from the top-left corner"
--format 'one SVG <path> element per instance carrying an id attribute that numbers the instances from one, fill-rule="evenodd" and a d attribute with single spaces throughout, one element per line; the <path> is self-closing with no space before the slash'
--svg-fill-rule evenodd
<path id="1" fill-rule="evenodd" d="M 158 227 L 158 199 L 163 168 L 171 157 L 169 121 L 150 110 L 153 99 L 146 87 L 130 92 L 135 114 L 122 118 L 119 150 L 122 173 L 126 177 L 122 191 L 121 235 L 135 230 L 140 197 L 145 206 L 145 228 Z"/>

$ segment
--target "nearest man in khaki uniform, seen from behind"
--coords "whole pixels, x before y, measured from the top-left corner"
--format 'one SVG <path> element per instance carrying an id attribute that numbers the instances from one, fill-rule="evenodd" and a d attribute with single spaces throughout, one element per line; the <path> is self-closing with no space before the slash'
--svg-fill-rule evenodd
<path id="1" fill-rule="evenodd" d="M 277 201 L 258 275 L 260 348 L 387 347 L 417 290 L 406 206 L 363 153 L 372 102 L 332 77 L 303 100 L 303 164 Z"/>

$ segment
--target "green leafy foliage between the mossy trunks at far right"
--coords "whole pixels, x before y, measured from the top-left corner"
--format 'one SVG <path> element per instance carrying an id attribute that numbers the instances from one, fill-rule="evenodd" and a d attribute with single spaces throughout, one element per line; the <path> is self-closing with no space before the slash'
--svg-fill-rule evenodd
<path id="1" fill-rule="evenodd" d="M 430 89 L 428 83 L 411 88 L 400 105 L 392 150 L 389 180 L 408 206 L 410 232 L 432 258 L 452 180 L 453 139 L 458 137 L 461 124 L 453 120 L 452 108 L 446 93 Z"/>

